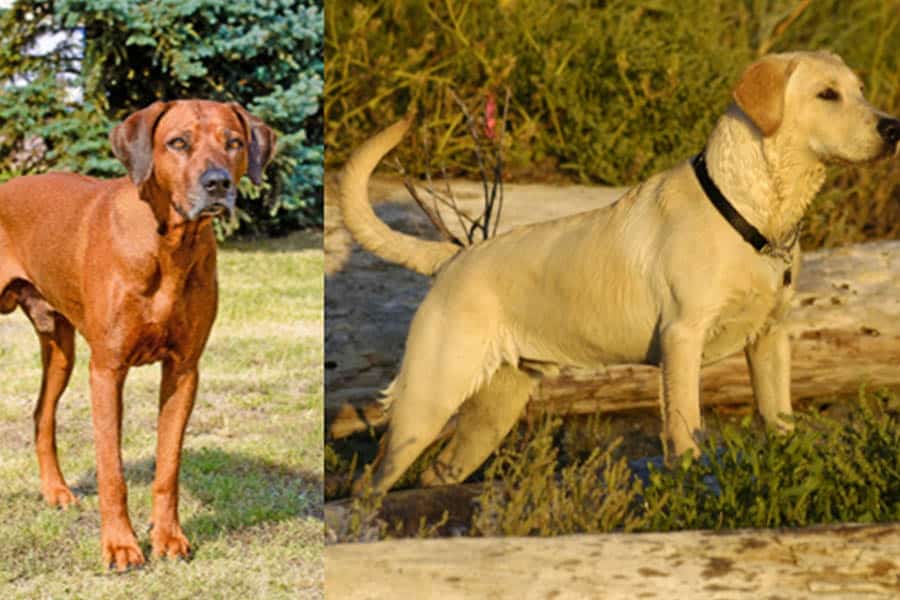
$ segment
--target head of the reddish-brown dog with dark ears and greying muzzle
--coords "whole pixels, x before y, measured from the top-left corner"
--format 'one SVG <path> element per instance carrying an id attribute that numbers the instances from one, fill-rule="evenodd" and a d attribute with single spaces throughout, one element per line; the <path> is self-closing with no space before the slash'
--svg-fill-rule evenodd
<path id="1" fill-rule="evenodd" d="M 152 184 L 193 221 L 234 210 L 245 173 L 259 185 L 275 133 L 233 102 L 176 100 L 132 114 L 110 142 L 135 185 Z"/>

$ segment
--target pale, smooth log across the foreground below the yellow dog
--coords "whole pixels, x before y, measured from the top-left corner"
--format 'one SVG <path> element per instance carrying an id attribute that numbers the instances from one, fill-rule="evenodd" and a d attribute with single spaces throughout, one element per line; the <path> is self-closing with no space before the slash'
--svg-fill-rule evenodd
<path id="1" fill-rule="evenodd" d="M 900 524 L 325 549 L 329 598 L 897 598 Z"/>

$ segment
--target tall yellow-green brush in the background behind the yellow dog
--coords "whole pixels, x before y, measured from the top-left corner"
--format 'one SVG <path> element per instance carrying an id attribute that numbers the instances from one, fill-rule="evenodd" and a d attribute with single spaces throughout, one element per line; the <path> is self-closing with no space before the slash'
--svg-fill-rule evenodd
<path id="1" fill-rule="evenodd" d="M 450 88 L 477 112 L 509 88 L 507 172 L 521 179 L 633 184 L 703 147 L 740 71 L 760 53 L 829 48 L 900 112 L 896 0 L 383 0 L 329 3 L 326 166 L 416 107 L 399 149 L 407 170 L 474 175 Z M 784 25 L 788 26 L 785 28 Z M 428 151 L 425 151 L 425 140 Z M 835 169 L 811 211 L 807 246 L 900 233 L 900 168 Z"/>

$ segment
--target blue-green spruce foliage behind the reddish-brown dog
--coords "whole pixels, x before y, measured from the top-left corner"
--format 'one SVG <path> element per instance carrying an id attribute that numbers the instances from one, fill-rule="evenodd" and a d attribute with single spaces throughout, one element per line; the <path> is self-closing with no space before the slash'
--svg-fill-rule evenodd
<path id="1" fill-rule="evenodd" d="M 0 48 L 0 179 L 121 175 L 107 135 L 130 112 L 157 99 L 237 101 L 279 133 L 266 186 L 241 186 L 243 230 L 321 223 L 323 28 L 317 0 L 19 0 L 0 16 L 10 40 Z M 34 56 L 48 31 L 76 41 Z M 34 136 L 48 151 L 23 162 Z"/>

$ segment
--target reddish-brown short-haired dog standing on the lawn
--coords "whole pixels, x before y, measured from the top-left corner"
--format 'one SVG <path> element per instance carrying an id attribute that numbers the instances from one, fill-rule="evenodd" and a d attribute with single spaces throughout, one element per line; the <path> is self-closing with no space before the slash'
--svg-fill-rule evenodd
<path id="1" fill-rule="evenodd" d="M 184 557 L 178 470 L 216 316 L 212 220 L 234 208 L 245 173 L 260 183 L 275 135 L 237 104 L 179 100 L 134 113 L 110 141 L 129 177 L 49 173 L 0 185 L 0 311 L 21 306 L 40 338 L 35 445 L 41 492 L 55 506 L 75 501 L 59 469 L 55 415 L 76 330 L 91 348 L 100 539 L 105 563 L 124 570 L 144 562 L 122 474 L 125 376 L 162 361 L 150 537 L 155 556 Z"/>

